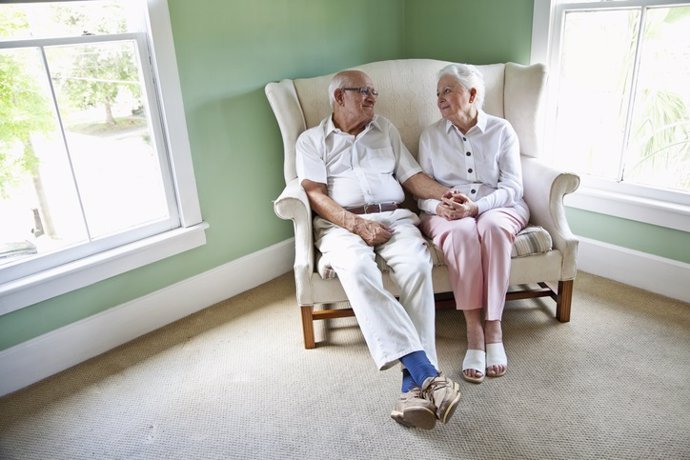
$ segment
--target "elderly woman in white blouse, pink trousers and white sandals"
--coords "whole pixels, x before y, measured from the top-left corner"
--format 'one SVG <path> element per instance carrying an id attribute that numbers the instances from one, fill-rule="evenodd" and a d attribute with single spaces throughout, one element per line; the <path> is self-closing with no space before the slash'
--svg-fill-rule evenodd
<path id="1" fill-rule="evenodd" d="M 456 306 L 465 315 L 463 378 L 481 383 L 485 375 L 504 375 L 508 366 L 501 316 L 510 253 L 529 220 L 520 148 L 510 123 L 482 111 L 484 80 L 474 66 L 441 69 L 436 97 L 442 118 L 422 133 L 419 163 L 452 192 L 440 201 L 419 200 L 421 228 L 442 249 Z"/>

